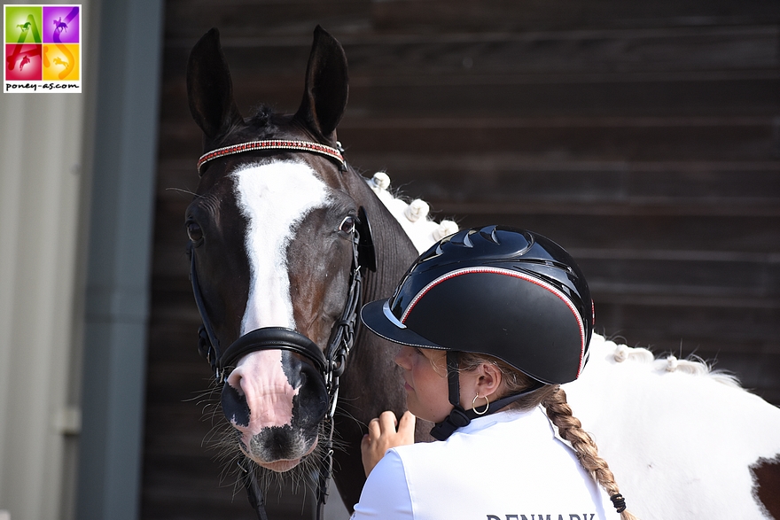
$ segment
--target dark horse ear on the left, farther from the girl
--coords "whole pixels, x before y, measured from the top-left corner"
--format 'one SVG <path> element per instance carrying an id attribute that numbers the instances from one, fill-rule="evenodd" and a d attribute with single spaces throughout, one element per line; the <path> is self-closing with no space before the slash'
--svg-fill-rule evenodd
<path id="1" fill-rule="evenodd" d="M 222 136 L 244 120 L 233 98 L 230 68 L 216 28 L 203 35 L 190 52 L 187 97 L 192 119 L 209 139 Z"/>

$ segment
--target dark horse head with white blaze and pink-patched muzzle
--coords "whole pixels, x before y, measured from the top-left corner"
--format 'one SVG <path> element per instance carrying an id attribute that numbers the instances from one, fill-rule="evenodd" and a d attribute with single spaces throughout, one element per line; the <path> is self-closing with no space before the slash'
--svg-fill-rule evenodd
<path id="1" fill-rule="evenodd" d="M 341 346 L 355 336 L 361 274 L 369 278 L 364 297 L 366 286 L 389 291 L 417 252 L 404 238 L 401 270 L 379 281 L 366 272 L 376 268 L 368 214 L 379 223 L 374 239 L 405 235 L 341 158 L 347 58 L 322 28 L 292 115 L 239 113 L 215 29 L 191 51 L 187 90 L 205 152 L 186 212 L 203 350 L 223 383 L 222 410 L 241 451 L 263 468 L 290 470 L 316 449 L 334 407 L 332 369 L 343 370 Z M 378 353 L 392 365 L 392 354 Z M 359 434 L 347 442 L 358 444 Z"/>

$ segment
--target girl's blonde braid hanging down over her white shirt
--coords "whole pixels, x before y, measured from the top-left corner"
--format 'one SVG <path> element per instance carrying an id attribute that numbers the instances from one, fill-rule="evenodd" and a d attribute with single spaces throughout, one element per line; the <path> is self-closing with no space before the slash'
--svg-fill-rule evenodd
<path id="1" fill-rule="evenodd" d="M 572 415 L 572 407 L 566 402 L 566 392 L 558 387 L 556 392 L 552 392 L 542 400 L 542 406 L 547 410 L 550 421 L 558 427 L 560 436 L 572 443 L 582 467 L 589 471 L 598 485 L 601 485 L 609 495 L 612 504 L 620 513 L 620 519 L 637 520 L 636 516 L 626 509 L 626 501 L 615 483 L 612 470 L 609 469 L 606 461 L 598 456 L 596 443 L 587 431 L 582 430 L 580 420 Z"/>

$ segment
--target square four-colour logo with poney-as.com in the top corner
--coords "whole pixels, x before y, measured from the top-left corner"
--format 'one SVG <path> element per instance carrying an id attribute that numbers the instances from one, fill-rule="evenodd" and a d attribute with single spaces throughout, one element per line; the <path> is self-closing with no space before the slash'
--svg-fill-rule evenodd
<path id="1" fill-rule="evenodd" d="M 81 4 L 3 7 L 3 91 L 81 92 Z"/>

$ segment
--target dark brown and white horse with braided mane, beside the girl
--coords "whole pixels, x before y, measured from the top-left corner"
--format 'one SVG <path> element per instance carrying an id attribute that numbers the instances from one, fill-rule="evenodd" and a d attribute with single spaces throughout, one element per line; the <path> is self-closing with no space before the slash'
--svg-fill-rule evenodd
<path id="1" fill-rule="evenodd" d="M 418 252 L 455 229 L 428 221 L 424 203 L 390 196 L 386 177 L 347 165 L 336 137 L 347 58 L 322 28 L 297 113 L 239 113 L 215 29 L 191 51 L 187 90 L 204 148 L 186 212 L 191 278 L 199 347 L 233 431 L 226 442 L 251 476 L 327 476 L 332 453 L 351 510 L 366 423 L 405 407 L 394 346 L 355 323 L 355 308 L 386 298 Z M 780 518 L 778 408 L 698 361 L 655 360 L 598 335 L 590 348 L 566 392 L 632 512 Z M 430 440 L 430 427 L 418 422 L 417 440 Z M 261 489 L 246 482 L 252 502 Z"/>

